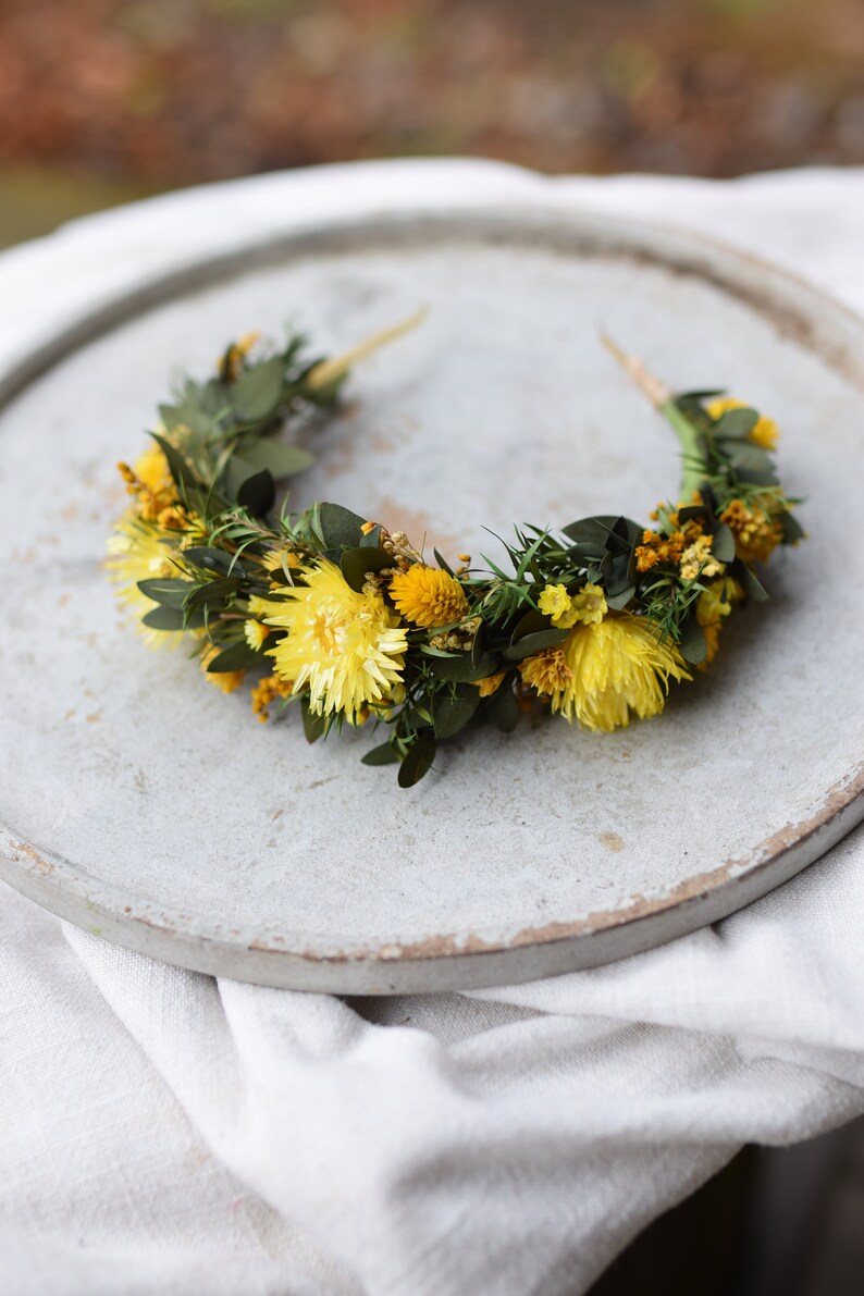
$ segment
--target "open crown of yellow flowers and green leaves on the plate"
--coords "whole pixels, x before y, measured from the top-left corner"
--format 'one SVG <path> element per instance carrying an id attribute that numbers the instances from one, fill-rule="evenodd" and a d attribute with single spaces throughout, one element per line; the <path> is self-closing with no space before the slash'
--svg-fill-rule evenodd
<path id="1" fill-rule="evenodd" d="M 663 709 L 668 682 L 716 656 L 729 613 L 767 594 L 754 565 L 802 530 L 771 459 L 775 422 L 719 391 L 672 394 L 604 340 L 676 433 L 676 504 L 652 526 L 587 517 L 514 529 L 506 560 L 434 565 L 402 531 L 339 504 L 276 513 L 276 482 L 312 455 L 277 434 L 330 407 L 350 367 L 417 320 L 335 360 L 304 338 L 256 355 L 231 345 L 218 372 L 159 407 L 153 445 L 119 470 L 132 496 L 109 542 L 118 595 L 152 644 L 185 640 L 253 710 L 299 706 L 310 741 L 385 726 L 363 757 L 421 779 L 466 726 L 510 732 L 532 712 L 614 730 Z M 508 565 L 509 564 L 509 565 Z"/>

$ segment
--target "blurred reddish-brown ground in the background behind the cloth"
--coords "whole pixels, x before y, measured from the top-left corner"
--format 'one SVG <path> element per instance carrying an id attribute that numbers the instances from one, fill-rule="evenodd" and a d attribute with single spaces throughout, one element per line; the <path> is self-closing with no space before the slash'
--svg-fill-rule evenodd
<path id="1" fill-rule="evenodd" d="M 276 167 L 864 162 L 861 0 L 0 0 L 0 240 Z"/>

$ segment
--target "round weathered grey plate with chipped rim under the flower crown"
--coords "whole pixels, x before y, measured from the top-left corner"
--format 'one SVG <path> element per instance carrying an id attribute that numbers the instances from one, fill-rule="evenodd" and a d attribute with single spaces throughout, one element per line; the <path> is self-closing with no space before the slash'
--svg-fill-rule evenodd
<path id="1" fill-rule="evenodd" d="M 148 651 L 102 557 L 114 464 L 179 369 L 289 320 L 333 354 L 420 305 L 426 324 L 307 432 L 295 505 L 496 561 L 513 522 L 646 518 L 675 495 L 676 445 L 602 329 L 675 386 L 725 384 L 779 420 L 810 538 L 659 718 L 479 731 L 403 792 L 360 763 L 369 734 L 308 746 L 298 714 L 258 724 L 245 689 Z M 31 360 L 0 415 L 1 875 L 74 923 L 276 986 L 518 981 L 714 921 L 864 814 L 864 327 L 806 285 L 681 232 L 439 205 L 189 258 Z"/>

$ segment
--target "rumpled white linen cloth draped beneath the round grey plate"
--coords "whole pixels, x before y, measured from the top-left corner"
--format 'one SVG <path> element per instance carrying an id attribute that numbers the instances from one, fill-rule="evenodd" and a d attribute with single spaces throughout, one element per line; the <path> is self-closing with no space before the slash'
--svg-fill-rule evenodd
<path id="1" fill-rule="evenodd" d="M 9 253 L 0 355 L 26 353 L 47 259 L 74 316 L 95 229 L 91 297 L 122 281 L 131 244 L 168 264 L 205 202 L 227 227 L 316 185 L 348 206 L 364 187 L 456 194 L 466 167 L 488 197 L 543 183 L 551 201 L 703 228 L 864 310 L 863 171 L 529 181 L 383 163 L 171 196 Z M 216 981 L 0 894 L 4 1296 L 576 1296 L 745 1140 L 864 1112 L 864 828 L 663 949 L 427 998 Z"/>

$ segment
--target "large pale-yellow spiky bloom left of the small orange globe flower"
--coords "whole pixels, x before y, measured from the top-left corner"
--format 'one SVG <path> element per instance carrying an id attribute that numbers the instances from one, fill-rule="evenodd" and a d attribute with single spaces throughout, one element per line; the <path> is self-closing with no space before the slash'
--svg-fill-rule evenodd
<path id="1" fill-rule="evenodd" d="M 301 570 L 306 584 L 269 604 L 277 610 L 267 623 L 289 634 L 268 656 L 295 692 L 308 684 L 315 714 L 341 712 L 358 723 L 367 704 L 385 701 L 402 683 L 407 631 L 380 594 L 358 594 L 326 559 Z"/>

